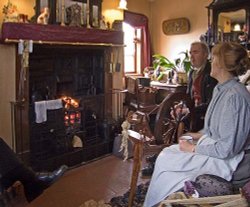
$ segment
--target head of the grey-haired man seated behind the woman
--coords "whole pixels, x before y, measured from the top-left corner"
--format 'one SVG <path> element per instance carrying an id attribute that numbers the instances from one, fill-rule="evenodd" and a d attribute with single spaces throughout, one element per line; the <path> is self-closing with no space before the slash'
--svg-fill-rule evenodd
<path id="1" fill-rule="evenodd" d="M 194 68 L 200 68 L 208 59 L 209 48 L 204 42 L 193 42 L 190 47 L 190 60 Z"/>

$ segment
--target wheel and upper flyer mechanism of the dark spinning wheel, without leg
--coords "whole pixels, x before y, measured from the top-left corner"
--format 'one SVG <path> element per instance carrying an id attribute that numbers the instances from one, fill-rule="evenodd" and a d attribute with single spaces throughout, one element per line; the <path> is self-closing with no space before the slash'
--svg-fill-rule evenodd
<path id="1" fill-rule="evenodd" d="M 151 113 L 152 111 L 154 113 Z M 193 128 L 193 101 L 184 92 L 167 95 L 152 111 L 131 110 L 126 114 L 132 130 L 150 138 L 150 146 L 177 143 L 177 138 L 185 130 Z M 151 114 L 155 116 L 152 118 Z"/>

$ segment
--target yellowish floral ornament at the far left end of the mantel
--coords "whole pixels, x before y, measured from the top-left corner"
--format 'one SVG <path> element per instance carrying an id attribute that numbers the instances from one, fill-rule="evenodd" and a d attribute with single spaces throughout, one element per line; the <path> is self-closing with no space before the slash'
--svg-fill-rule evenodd
<path id="1" fill-rule="evenodd" d="M 3 6 L 3 22 L 19 22 L 19 13 L 17 6 L 12 4 L 10 0 Z"/>

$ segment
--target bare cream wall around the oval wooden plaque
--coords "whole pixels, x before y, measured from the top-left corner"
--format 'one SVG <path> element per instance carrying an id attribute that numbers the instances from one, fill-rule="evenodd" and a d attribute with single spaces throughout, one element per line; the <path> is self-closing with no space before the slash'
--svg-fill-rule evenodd
<path id="1" fill-rule="evenodd" d="M 152 39 L 154 53 L 166 55 L 170 59 L 177 58 L 181 51 L 189 49 L 191 42 L 199 40 L 208 26 L 207 9 L 212 0 L 154 0 L 152 5 Z M 187 34 L 165 35 L 162 22 L 168 19 L 186 17 L 190 21 Z"/>

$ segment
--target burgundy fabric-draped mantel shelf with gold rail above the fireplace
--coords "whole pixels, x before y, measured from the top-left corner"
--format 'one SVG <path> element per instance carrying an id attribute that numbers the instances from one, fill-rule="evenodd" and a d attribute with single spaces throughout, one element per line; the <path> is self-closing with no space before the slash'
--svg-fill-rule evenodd
<path id="1" fill-rule="evenodd" d="M 1 40 L 5 43 L 33 40 L 34 43 L 122 46 L 123 32 L 60 25 L 40 25 L 6 22 Z"/>

